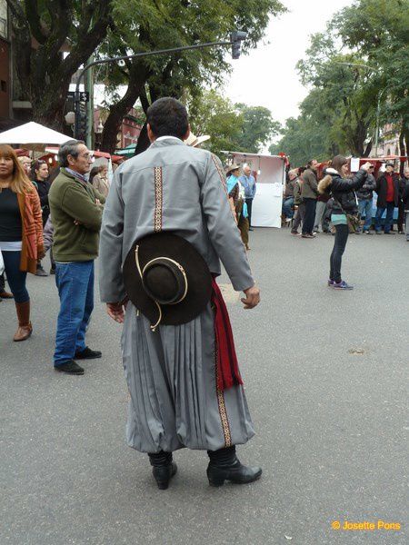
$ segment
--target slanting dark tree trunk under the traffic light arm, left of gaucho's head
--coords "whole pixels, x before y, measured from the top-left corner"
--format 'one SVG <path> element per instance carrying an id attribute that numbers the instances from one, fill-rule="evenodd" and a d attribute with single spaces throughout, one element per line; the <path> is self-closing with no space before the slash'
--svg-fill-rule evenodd
<path id="1" fill-rule="evenodd" d="M 141 62 L 135 62 L 131 65 L 129 71 L 129 84 L 124 97 L 110 107 L 109 115 L 106 118 L 104 132 L 101 140 L 101 150 L 108 154 L 114 154 L 116 147 L 117 134 L 125 115 L 134 106 L 139 94 L 141 94 L 148 69 Z"/>

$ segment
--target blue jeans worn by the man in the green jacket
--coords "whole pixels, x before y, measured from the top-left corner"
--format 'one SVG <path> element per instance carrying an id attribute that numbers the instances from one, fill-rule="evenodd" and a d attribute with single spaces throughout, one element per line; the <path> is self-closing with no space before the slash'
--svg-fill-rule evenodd
<path id="1" fill-rule="evenodd" d="M 60 296 L 54 353 L 57 366 L 86 348 L 86 326 L 94 309 L 94 260 L 55 263 L 55 283 Z"/>

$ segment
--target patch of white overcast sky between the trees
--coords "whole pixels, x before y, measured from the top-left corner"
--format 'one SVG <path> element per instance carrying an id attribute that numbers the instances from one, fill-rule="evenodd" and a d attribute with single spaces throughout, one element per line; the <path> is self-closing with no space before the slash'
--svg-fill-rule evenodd
<path id="1" fill-rule="evenodd" d="M 284 123 L 296 117 L 307 90 L 300 83 L 295 64 L 304 57 L 309 36 L 321 32 L 331 16 L 352 0 L 282 0 L 289 13 L 274 18 L 264 42 L 250 54 L 232 61 L 234 72 L 224 94 L 234 102 L 265 106 Z"/>

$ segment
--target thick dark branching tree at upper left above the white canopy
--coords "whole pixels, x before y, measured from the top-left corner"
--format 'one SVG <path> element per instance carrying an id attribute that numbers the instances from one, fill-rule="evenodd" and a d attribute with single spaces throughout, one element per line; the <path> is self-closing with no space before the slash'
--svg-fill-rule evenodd
<path id="1" fill-rule="evenodd" d="M 71 78 L 104 40 L 112 1 L 5 1 L 13 26 L 18 98 L 31 102 L 35 121 L 62 130 Z"/>

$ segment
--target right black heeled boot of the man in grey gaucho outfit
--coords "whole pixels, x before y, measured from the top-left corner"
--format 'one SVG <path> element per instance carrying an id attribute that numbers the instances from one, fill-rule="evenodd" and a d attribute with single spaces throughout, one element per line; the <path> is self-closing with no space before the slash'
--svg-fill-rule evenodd
<path id="1" fill-rule="evenodd" d="M 262 469 L 244 466 L 235 455 L 235 447 L 219 451 L 207 451 L 210 461 L 207 466 L 207 479 L 211 486 L 223 486 L 224 481 L 236 484 L 253 482 L 260 478 Z"/>

